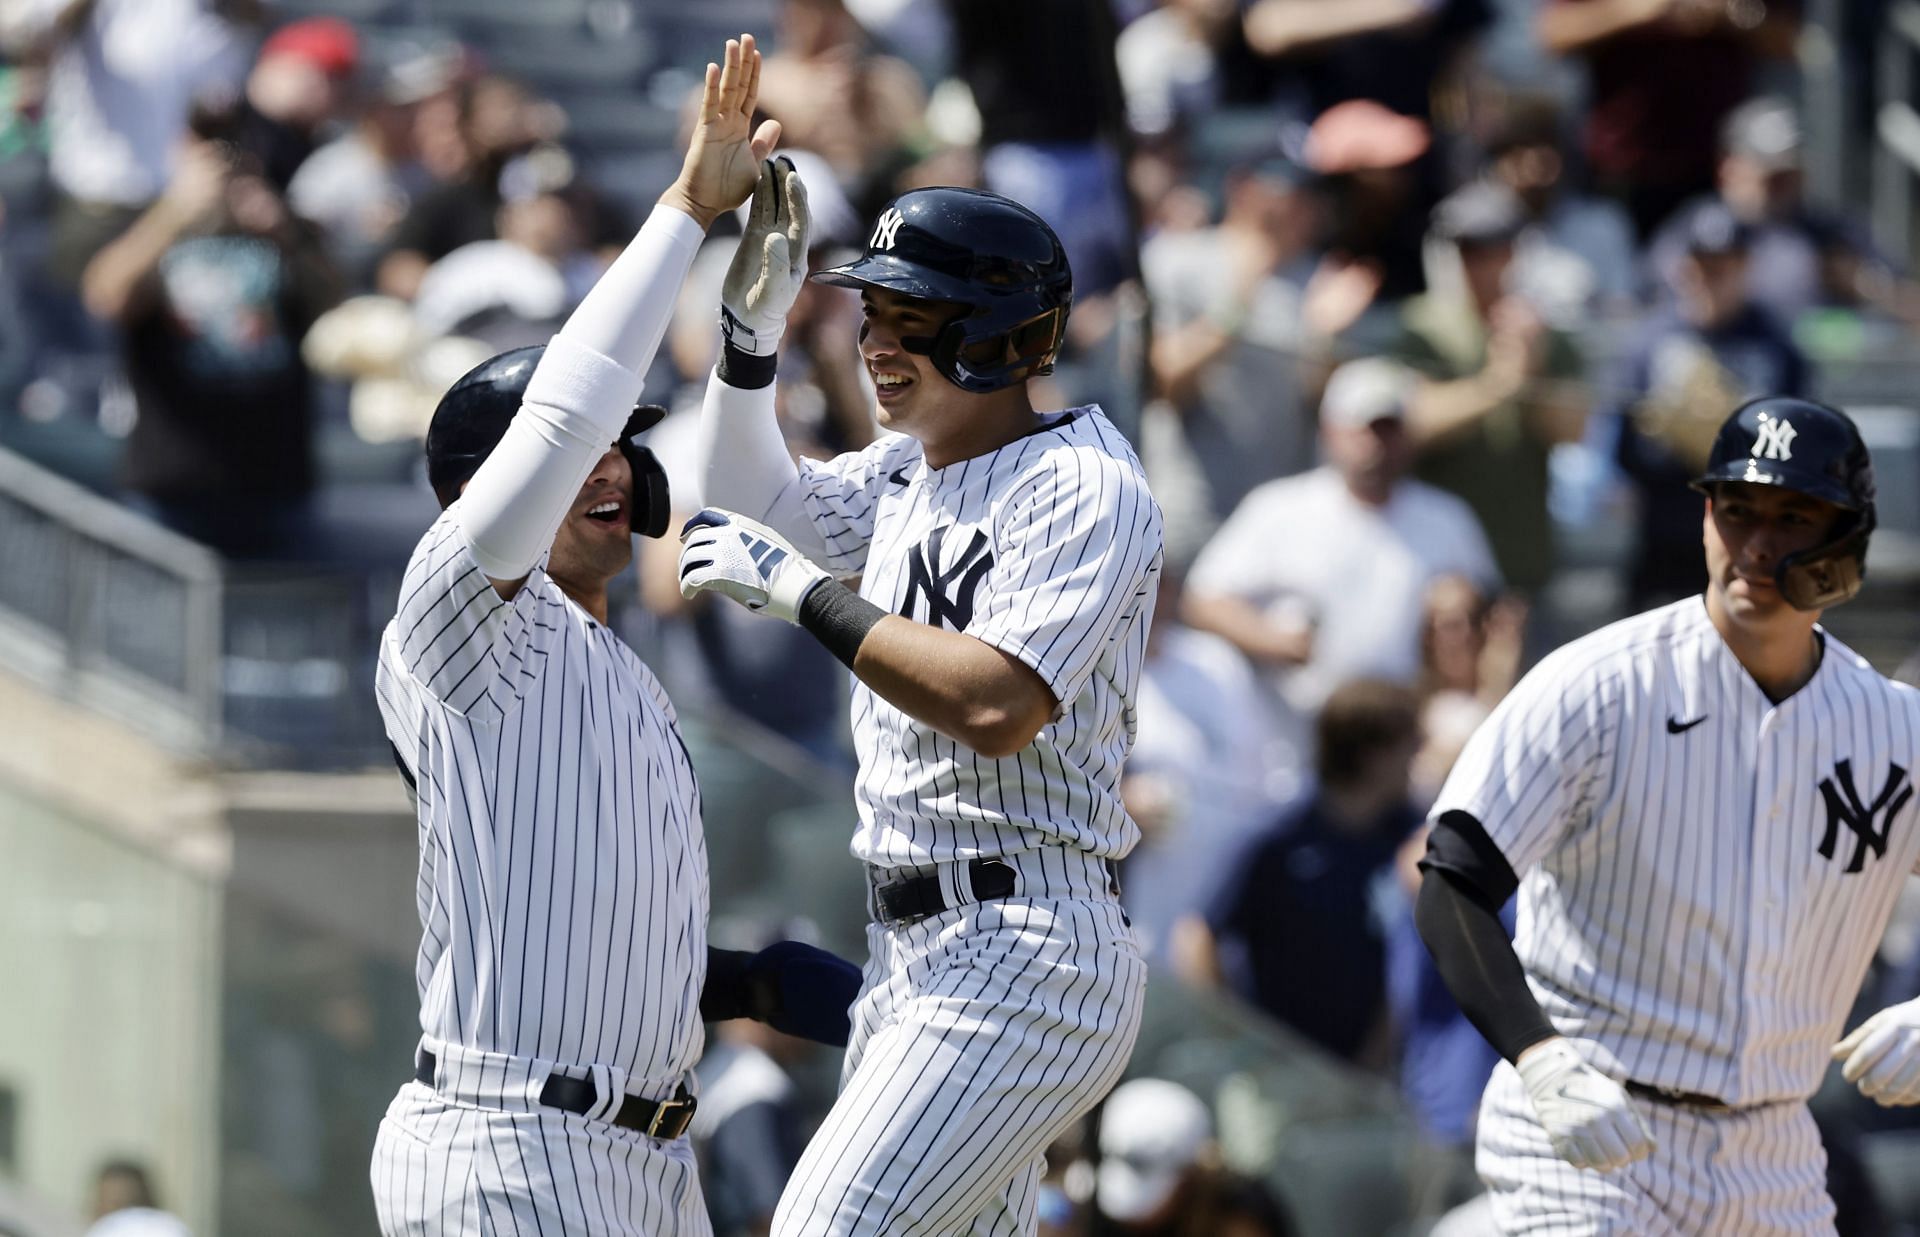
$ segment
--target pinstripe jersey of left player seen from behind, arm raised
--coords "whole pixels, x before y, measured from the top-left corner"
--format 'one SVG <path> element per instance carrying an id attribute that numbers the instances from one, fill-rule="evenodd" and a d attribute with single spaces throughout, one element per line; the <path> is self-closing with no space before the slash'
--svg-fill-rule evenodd
<path id="1" fill-rule="evenodd" d="M 503 601 L 449 511 L 376 688 L 419 799 L 420 1028 L 670 1091 L 701 1055 L 707 843 L 659 680 L 545 555 Z"/>

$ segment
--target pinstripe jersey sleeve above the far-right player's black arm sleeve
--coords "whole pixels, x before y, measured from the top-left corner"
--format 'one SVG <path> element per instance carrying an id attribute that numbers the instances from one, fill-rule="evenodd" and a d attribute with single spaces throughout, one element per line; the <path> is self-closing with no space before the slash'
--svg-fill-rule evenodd
<path id="1" fill-rule="evenodd" d="M 1590 809 L 1607 699 L 1592 668 L 1576 670 L 1571 649 L 1534 667 L 1473 732 L 1432 805 L 1434 820 L 1453 811 L 1478 820 L 1517 876 Z"/>

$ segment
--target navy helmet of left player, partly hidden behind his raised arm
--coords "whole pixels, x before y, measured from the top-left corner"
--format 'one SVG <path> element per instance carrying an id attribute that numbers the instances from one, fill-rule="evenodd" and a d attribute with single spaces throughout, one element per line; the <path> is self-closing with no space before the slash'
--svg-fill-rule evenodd
<path id="1" fill-rule="evenodd" d="M 480 461 L 493 453 L 499 440 L 507 436 L 507 424 L 520 411 L 526 396 L 526 382 L 534 376 L 545 344 L 534 348 L 515 348 L 497 357 L 482 361 L 467 371 L 434 409 L 434 421 L 426 426 L 426 480 L 434 486 L 434 497 L 442 507 L 451 507 L 461 496 L 461 486 L 480 471 Z M 649 538 L 666 532 L 672 515 L 666 494 L 666 471 L 643 446 L 634 442 L 660 423 L 666 409 L 641 403 L 636 405 L 614 442 L 626 463 L 634 469 L 634 532 Z"/>

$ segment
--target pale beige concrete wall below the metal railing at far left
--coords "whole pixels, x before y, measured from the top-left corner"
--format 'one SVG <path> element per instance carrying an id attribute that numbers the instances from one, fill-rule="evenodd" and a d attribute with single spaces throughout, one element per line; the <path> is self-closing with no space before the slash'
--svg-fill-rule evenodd
<path id="1" fill-rule="evenodd" d="M 200 782 L 0 678 L 0 1087 L 15 1183 L 81 1216 L 108 1156 L 215 1231 L 221 861 Z"/>

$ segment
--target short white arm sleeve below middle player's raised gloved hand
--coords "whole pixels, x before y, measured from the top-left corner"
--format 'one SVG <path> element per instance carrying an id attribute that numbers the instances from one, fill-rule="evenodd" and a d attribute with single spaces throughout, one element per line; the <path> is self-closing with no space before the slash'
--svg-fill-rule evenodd
<path id="1" fill-rule="evenodd" d="M 772 384 L 741 390 L 714 371 L 701 407 L 701 457 L 710 507 L 760 521 L 814 563 L 826 561 L 828 544 L 806 517 L 801 469 L 774 415 Z"/>

